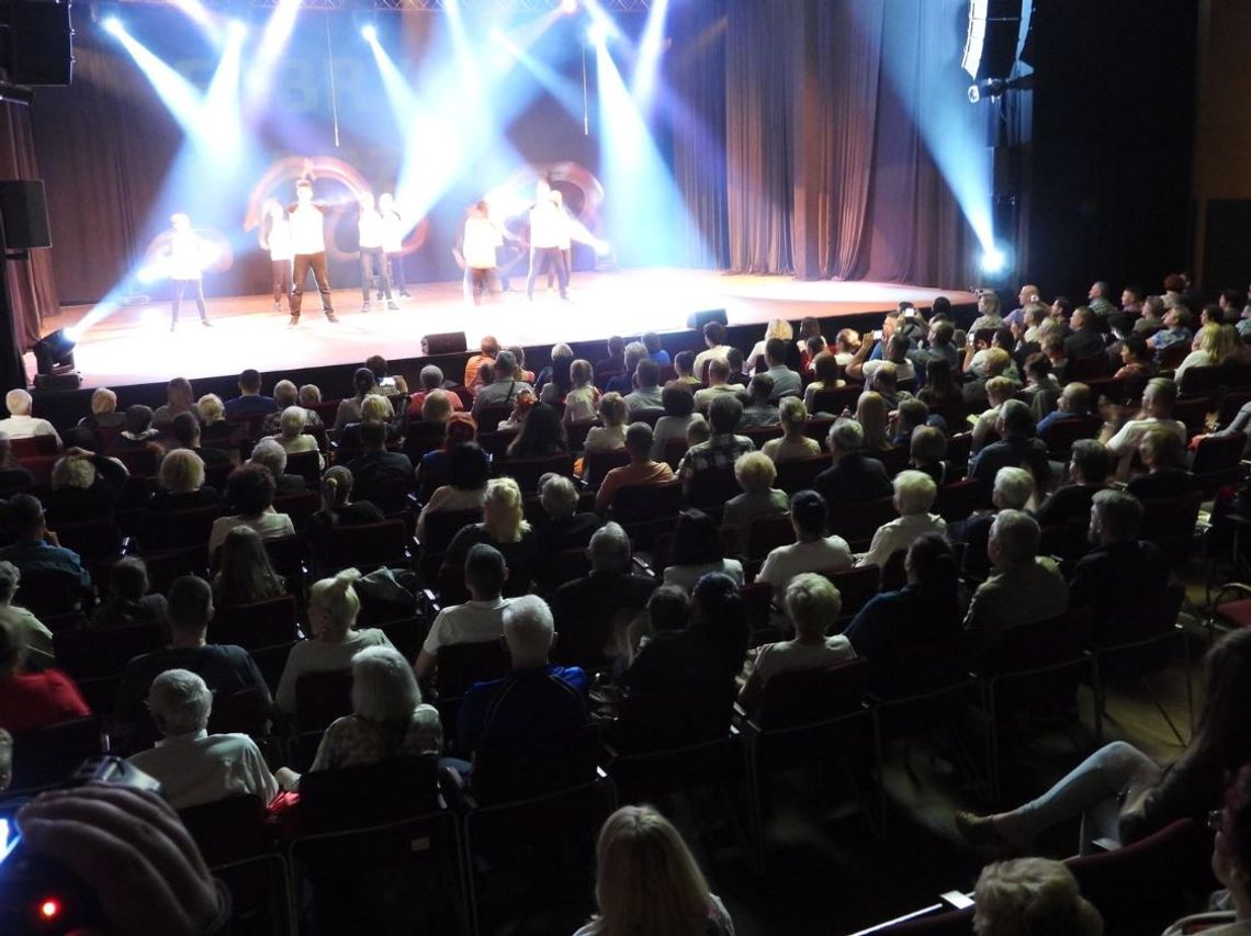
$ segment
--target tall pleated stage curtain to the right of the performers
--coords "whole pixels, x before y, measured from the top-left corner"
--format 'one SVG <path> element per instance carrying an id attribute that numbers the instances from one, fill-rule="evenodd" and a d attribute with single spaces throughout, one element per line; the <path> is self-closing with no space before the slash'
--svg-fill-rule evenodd
<path id="1" fill-rule="evenodd" d="M 967 0 L 691 0 L 676 15 L 674 165 L 721 265 L 792 273 L 807 244 L 807 275 L 972 282 L 958 165 L 934 158 L 960 144 L 968 159 L 948 163 L 988 184 L 987 110 L 965 101 L 960 69 L 967 15 Z"/>

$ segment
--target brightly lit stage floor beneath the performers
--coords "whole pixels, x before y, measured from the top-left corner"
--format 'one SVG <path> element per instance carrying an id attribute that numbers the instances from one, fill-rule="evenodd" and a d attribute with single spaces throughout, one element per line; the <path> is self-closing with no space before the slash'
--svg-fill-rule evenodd
<path id="1" fill-rule="evenodd" d="M 514 288 L 524 279 L 513 278 Z M 545 345 L 594 340 L 609 334 L 676 332 L 687 315 L 724 308 L 731 325 L 764 324 L 771 318 L 833 318 L 886 312 L 902 300 L 928 307 L 934 297 L 972 303 L 971 293 L 886 283 L 801 283 L 789 277 L 728 275 L 714 270 L 647 269 L 578 273 L 570 300 L 535 292 L 504 293 L 498 302 L 465 305 L 459 283 L 422 284 L 399 312 L 360 312 L 359 289 L 334 292 L 339 324 L 320 314 L 317 293 L 305 293 L 304 315 L 288 327 L 268 295 L 209 299 L 214 328 L 201 328 L 194 304 L 184 302 L 178 330 L 169 330 L 169 303 L 125 305 L 76 335 L 75 363 L 85 387 L 124 387 L 230 374 L 253 367 L 276 373 L 299 367 L 348 364 L 382 354 L 392 360 L 420 357 L 422 335 L 464 330 L 469 347 L 487 334 L 500 344 Z M 44 322 L 45 332 L 71 328 L 88 305 L 63 307 Z M 26 355 L 28 370 L 34 360 Z"/>

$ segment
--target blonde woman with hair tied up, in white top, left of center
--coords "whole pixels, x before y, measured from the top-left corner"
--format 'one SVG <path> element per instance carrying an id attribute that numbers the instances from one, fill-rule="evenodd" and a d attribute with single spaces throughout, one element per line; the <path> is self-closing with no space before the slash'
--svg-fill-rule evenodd
<path id="1" fill-rule="evenodd" d="M 295 712 L 295 683 L 301 676 L 348 669 L 353 657 L 367 647 L 392 647 L 387 634 L 377 628 L 355 629 L 360 597 L 353 583 L 358 578 L 358 569 L 343 569 L 309 588 L 308 627 L 311 634 L 293 646 L 286 656 L 286 666 L 278 681 L 276 701 L 283 712 Z"/>

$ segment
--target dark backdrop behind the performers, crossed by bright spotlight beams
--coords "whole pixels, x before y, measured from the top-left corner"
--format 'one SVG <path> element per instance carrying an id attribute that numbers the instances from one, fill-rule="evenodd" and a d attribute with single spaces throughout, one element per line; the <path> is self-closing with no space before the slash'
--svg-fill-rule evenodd
<path id="1" fill-rule="evenodd" d="M 221 54 L 185 15 L 146 5 L 126 5 L 123 14 L 138 41 L 186 79 L 196 95 L 205 93 Z M 163 295 L 163 282 L 144 283 L 134 274 L 144 268 L 145 252 L 173 211 L 190 214 L 198 230 L 229 250 L 218 264 L 229 269 L 205 277 L 210 295 L 268 293 L 268 258 L 254 226 L 259 200 L 273 195 L 293 201 L 294 179 L 305 159 L 314 165 L 318 198 L 340 205 L 329 229 L 337 287 L 359 282 L 349 183 L 374 194 L 395 191 L 398 184 L 438 190 L 409 219 L 415 225 L 405 255 L 410 282 L 458 278 L 452 247 L 467 205 L 508 188 L 515 215 L 523 219 L 535 169 L 554 173 L 575 211 L 584 198 L 598 196 L 594 58 L 588 68 L 592 125 L 585 135 L 583 28 L 575 20 L 557 19 L 529 49 L 547 63 L 545 78 L 557 93 L 514 65 L 488 94 L 487 106 L 475 108 L 458 80 L 444 15 L 379 13 L 372 21 L 395 74 L 407 81 L 413 101 L 435 115 L 425 126 L 402 123 L 393 113 L 380 69 L 360 36 L 364 21 L 362 14 L 343 10 L 301 11 L 276 60 L 270 89 L 261 95 L 248 84 L 264 25 L 258 19 L 245 46 L 241 109 L 205 106 L 206 125 L 203 119 L 199 125 L 194 119 L 181 125 L 119 40 L 88 21 L 84 11 L 75 24 L 74 85 L 41 89 L 31 109 L 61 300 L 95 302 L 123 282 L 128 293 Z M 490 46 L 488 24 L 467 25 L 490 56 L 478 63 L 487 83 L 487 69 L 507 53 Z M 502 25 L 507 30 L 510 24 Z M 455 146 L 444 139 L 449 125 L 459 136 Z M 590 211 L 588 224 L 593 226 L 595 218 Z M 590 248 L 575 248 L 577 267 L 594 259 Z"/>

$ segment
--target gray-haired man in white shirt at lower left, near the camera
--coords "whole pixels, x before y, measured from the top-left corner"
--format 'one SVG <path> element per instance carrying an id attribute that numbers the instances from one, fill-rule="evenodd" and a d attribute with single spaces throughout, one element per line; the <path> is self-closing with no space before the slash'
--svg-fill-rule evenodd
<path id="1" fill-rule="evenodd" d="M 209 735 L 213 693 L 188 669 L 166 669 L 153 679 L 148 710 L 163 740 L 129 762 L 160 781 L 175 810 L 229 796 L 255 796 L 268 805 L 278 782 L 256 743 L 246 735 Z"/>

